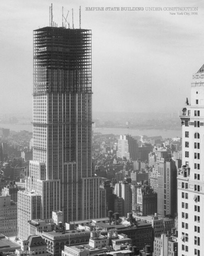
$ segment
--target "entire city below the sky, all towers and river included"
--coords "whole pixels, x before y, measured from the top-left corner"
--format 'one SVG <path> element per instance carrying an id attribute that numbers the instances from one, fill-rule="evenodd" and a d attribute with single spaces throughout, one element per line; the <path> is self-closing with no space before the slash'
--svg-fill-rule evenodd
<path id="1" fill-rule="evenodd" d="M 52 8 L 33 119 L 0 114 L 0 255 L 204 255 L 204 65 L 178 113 L 94 112 L 92 32 Z"/>

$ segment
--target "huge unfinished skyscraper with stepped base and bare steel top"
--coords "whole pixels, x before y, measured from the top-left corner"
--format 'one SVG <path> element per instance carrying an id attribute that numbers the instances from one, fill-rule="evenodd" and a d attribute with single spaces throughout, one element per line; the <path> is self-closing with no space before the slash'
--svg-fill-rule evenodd
<path id="1" fill-rule="evenodd" d="M 91 30 L 34 30 L 33 160 L 26 192 L 18 193 L 21 239 L 28 236 L 27 220 L 51 218 L 53 210 L 63 211 L 65 222 L 99 216 L 91 72 Z"/>

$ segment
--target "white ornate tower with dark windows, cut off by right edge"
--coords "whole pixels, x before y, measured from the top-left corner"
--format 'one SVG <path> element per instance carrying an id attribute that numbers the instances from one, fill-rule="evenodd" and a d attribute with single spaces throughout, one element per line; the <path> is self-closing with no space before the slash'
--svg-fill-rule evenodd
<path id="1" fill-rule="evenodd" d="M 193 74 L 191 104 L 182 109 L 178 172 L 178 255 L 204 255 L 204 65 Z"/>

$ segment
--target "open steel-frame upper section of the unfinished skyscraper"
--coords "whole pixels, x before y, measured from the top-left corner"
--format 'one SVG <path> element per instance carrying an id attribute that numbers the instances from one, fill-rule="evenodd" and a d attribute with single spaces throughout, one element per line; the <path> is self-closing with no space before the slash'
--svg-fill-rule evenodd
<path id="1" fill-rule="evenodd" d="M 92 93 L 91 30 L 33 31 L 33 94 Z"/>

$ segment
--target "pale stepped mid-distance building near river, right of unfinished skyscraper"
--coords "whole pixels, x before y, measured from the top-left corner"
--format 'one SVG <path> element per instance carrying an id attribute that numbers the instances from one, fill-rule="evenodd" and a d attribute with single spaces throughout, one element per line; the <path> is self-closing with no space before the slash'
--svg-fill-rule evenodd
<path id="1" fill-rule="evenodd" d="M 117 157 L 126 158 L 127 160 L 137 160 L 138 158 L 138 145 L 137 140 L 130 135 L 120 135 L 118 140 Z"/>

